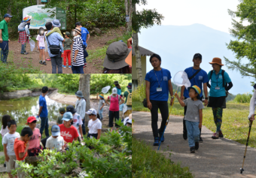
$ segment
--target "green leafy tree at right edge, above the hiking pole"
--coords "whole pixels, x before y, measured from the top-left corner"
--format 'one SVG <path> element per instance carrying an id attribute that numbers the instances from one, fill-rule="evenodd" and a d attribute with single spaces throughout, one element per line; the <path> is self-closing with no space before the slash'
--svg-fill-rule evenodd
<path id="1" fill-rule="evenodd" d="M 227 49 L 236 54 L 231 61 L 224 57 L 227 68 L 239 71 L 242 77 L 253 77 L 256 80 L 256 0 L 244 0 L 237 6 L 237 11 L 228 13 L 232 17 L 233 29 L 230 34 L 236 38 L 227 44 Z M 239 18 L 236 21 L 234 17 Z M 248 22 L 244 25 L 243 22 Z M 245 60 L 246 59 L 246 60 Z"/>

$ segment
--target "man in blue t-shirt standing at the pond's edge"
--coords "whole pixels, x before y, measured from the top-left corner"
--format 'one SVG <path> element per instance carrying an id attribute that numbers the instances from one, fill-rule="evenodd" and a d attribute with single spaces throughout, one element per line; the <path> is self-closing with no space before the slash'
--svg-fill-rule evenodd
<path id="1" fill-rule="evenodd" d="M 47 95 L 48 87 L 44 86 L 42 88 L 42 94 L 39 97 L 39 112 L 38 116 L 41 118 L 41 128 L 40 133 L 43 135 L 43 131 L 45 128 L 45 135 L 46 137 L 49 137 L 49 124 L 48 124 L 48 110 L 47 110 L 47 104 L 45 100 L 45 96 Z"/>

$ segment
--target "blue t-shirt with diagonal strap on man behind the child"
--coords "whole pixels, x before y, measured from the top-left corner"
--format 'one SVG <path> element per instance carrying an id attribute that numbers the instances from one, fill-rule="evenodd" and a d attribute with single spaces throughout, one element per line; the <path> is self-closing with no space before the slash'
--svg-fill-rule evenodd
<path id="1" fill-rule="evenodd" d="M 199 70 L 199 69 L 198 69 Z M 190 68 L 186 68 L 185 69 L 185 72 L 187 73 L 187 77 L 190 78 L 192 77 L 198 70 L 195 70 L 193 67 L 190 67 Z M 207 76 L 207 73 L 206 71 L 203 71 L 203 69 L 198 72 L 197 75 L 195 75 L 195 77 L 193 77 L 191 80 L 190 80 L 190 83 L 191 83 L 191 86 L 198 86 L 201 91 L 203 91 L 203 85 L 202 83 L 207 83 L 209 80 L 208 80 L 208 76 Z M 185 88 L 184 89 L 184 98 L 189 98 L 189 95 L 188 95 L 188 91 L 187 89 Z M 200 97 L 203 96 L 203 92 L 200 93 Z M 207 96 L 206 96 L 207 97 Z"/>

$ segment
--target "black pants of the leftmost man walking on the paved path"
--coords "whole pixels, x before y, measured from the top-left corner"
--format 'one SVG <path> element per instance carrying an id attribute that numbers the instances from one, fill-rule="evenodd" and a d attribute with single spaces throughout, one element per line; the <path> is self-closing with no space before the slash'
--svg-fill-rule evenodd
<path id="1" fill-rule="evenodd" d="M 160 113 L 162 116 L 162 122 L 161 126 L 159 129 L 159 132 L 163 132 L 164 127 L 166 126 L 166 120 L 169 116 L 169 111 L 168 111 L 168 102 L 167 101 L 154 101 L 151 100 L 152 104 L 152 109 L 151 109 L 151 127 L 153 131 L 154 137 L 159 137 L 158 136 L 158 108 L 160 109 Z"/>

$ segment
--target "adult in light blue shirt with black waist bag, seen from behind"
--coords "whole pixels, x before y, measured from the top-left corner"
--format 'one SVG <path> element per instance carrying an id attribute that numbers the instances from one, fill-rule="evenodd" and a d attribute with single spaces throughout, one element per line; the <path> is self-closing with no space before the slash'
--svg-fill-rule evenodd
<path id="1" fill-rule="evenodd" d="M 47 29 L 47 32 L 49 33 L 53 29 L 53 24 L 50 22 L 45 23 L 45 28 Z M 53 32 L 45 40 L 47 41 L 47 48 L 48 48 L 48 53 L 50 56 L 52 74 L 56 74 L 56 68 L 58 68 L 58 74 L 62 74 L 61 50 L 59 48 L 59 53 L 53 54 L 50 49 L 50 46 L 52 46 L 52 45 L 59 46 L 59 41 L 63 41 L 64 38 L 62 38 L 62 36 L 59 35 L 59 33 Z"/>

